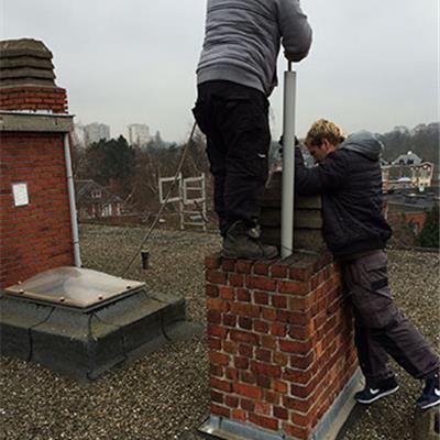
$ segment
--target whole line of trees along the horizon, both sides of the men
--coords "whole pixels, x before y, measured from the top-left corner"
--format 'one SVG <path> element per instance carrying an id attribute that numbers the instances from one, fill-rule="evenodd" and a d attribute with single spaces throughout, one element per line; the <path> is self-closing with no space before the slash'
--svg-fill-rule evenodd
<path id="1" fill-rule="evenodd" d="M 419 124 L 414 129 L 396 127 L 382 134 L 384 158 L 392 161 L 413 151 L 425 161 L 439 163 L 440 123 Z M 153 139 L 140 148 L 129 145 L 123 136 L 101 140 L 86 150 L 74 145 L 74 175 L 76 179 L 94 179 L 121 197 L 131 210 L 156 211 L 160 207 L 158 179 L 176 173 L 185 144 L 164 147 L 162 140 Z M 196 131 L 182 169 L 184 177 L 207 176 L 208 195 L 212 195 L 212 179 L 205 153 L 206 140 Z M 273 142 L 270 162 L 279 162 L 279 144 Z M 212 199 L 211 197 L 209 198 Z"/>

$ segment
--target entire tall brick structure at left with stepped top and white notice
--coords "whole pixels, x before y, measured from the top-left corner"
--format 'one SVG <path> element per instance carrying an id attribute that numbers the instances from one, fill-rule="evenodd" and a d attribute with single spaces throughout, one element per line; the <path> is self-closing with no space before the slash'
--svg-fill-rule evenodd
<path id="1" fill-rule="evenodd" d="M 73 265 L 66 90 L 40 41 L 0 42 L 0 287 Z"/>

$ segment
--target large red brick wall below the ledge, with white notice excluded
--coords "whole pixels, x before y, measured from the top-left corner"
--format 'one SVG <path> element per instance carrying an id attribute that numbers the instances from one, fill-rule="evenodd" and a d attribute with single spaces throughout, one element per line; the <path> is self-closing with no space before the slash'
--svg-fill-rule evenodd
<path id="1" fill-rule="evenodd" d="M 0 287 L 73 265 L 63 134 L 0 133 Z M 15 207 L 12 184 L 28 183 Z"/>

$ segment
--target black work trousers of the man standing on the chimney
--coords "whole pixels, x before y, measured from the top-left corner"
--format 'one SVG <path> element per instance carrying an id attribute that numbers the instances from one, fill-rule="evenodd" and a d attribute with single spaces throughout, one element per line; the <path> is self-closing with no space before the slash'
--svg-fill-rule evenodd
<path id="1" fill-rule="evenodd" d="M 207 136 L 220 232 L 237 220 L 253 228 L 268 174 L 268 100 L 261 91 L 230 81 L 198 86 L 193 109 Z"/>

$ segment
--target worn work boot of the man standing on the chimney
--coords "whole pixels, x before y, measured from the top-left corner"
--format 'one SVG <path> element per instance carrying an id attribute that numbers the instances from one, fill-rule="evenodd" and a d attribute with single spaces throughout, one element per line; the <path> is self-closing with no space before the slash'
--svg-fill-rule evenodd
<path id="1" fill-rule="evenodd" d="M 249 228 L 238 220 L 227 232 L 221 254 L 226 258 L 271 260 L 278 255 L 278 250 L 260 241 L 258 228 Z"/>

